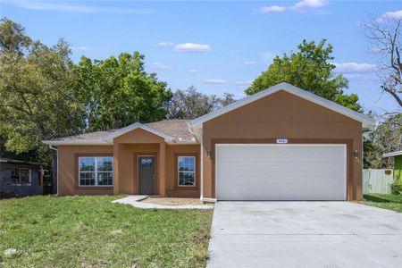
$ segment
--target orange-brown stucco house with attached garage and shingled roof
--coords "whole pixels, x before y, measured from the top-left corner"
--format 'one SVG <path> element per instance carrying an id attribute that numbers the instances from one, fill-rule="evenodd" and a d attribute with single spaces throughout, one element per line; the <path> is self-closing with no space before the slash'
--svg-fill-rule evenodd
<path id="1" fill-rule="evenodd" d="M 376 121 L 281 83 L 192 121 L 44 141 L 58 194 L 202 200 L 359 200 L 362 132 Z"/>

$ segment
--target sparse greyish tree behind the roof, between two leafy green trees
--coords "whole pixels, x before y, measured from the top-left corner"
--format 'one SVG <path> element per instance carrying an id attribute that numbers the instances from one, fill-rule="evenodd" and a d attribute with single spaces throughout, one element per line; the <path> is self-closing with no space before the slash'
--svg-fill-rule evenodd
<path id="1" fill-rule="evenodd" d="M 234 96 L 225 93 L 222 97 L 205 95 L 194 86 L 177 90 L 168 107 L 169 119 L 194 119 L 234 103 Z"/>

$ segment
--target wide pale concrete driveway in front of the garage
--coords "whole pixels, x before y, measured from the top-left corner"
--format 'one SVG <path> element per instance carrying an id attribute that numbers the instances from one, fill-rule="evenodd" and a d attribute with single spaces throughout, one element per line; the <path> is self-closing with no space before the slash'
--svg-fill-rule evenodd
<path id="1" fill-rule="evenodd" d="M 402 214 L 348 202 L 218 202 L 207 267 L 402 267 Z"/>

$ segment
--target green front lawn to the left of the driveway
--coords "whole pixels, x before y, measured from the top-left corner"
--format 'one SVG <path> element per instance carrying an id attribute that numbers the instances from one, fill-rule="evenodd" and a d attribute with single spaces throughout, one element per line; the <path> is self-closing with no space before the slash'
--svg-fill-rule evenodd
<path id="1" fill-rule="evenodd" d="M 116 198 L 0 200 L 0 267 L 205 266 L 212 210 L 142 210 Z"/>

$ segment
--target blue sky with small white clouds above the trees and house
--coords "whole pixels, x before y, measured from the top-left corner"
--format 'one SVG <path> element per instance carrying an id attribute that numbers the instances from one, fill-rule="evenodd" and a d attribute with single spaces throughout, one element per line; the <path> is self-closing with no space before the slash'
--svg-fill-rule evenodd
<path id="1" fill-rule="evenodd" d="M 73 59 L 104 59 L 138 50 L 147 71 L 172 90 L 195 85 L 207 94 L 244 89 L 272 57 L 296 50 L 302 39 L 328 39 L 337 71 L 349 80 L 366 112 L 398 111 L 381 94 L 378 59 L 359 21 L 386 13 L 402 18 L 401 1 L 25 1 L 0 0 L 0 16 L 20 22 L 47 45 L 65 38 Z"/>

